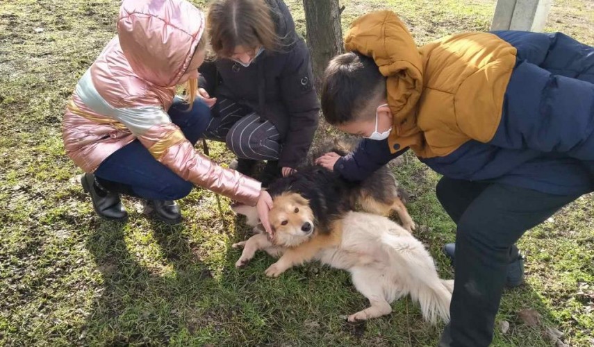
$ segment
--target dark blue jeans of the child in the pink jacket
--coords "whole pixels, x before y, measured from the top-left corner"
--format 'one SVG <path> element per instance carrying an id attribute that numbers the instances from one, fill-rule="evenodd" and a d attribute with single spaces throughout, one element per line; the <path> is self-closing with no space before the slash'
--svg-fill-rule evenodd
<path id="1" fill-rule="evenodd" d="M 211 110 L 199 99 L 188 110 L 188 104 L 176 98 L 167 113 L 192 144 L 198 142 L 211 121 Z M 183 198 L 194 186 L 158 162 L 138 139 L 101 162 L 94 174 L 99 184 L 111 192 L 147 200 Z"/>

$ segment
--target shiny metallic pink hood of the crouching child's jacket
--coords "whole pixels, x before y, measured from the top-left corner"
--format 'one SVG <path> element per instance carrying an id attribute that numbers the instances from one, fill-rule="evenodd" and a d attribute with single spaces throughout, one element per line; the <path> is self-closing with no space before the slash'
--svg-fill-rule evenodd
<path id="1" fill-rule="evenodd" d="M 204 13 L 184 0 L 124 0 L 119 44 L 138 77 L 173 87 L 188 69 L 204 32 Z"/>

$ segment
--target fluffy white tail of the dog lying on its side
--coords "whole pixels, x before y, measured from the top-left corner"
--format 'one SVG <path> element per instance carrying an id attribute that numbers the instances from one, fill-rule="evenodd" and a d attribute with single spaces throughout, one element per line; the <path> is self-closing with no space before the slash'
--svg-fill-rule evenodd
<path id="1" fill-rule="evenodd" d="M 402 264 L 406 277 L 399 285 L 419 301 L 423 318 L 429 323 L 442 319 L 449 321 L 449 303 L 452 301 L 453 280 L 441 280 L 429 252 L 413 237 L 384 234 L 382 244 L 389 249 L 392 264 Z"/>

